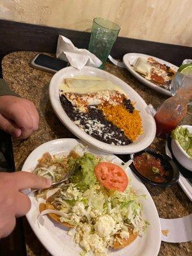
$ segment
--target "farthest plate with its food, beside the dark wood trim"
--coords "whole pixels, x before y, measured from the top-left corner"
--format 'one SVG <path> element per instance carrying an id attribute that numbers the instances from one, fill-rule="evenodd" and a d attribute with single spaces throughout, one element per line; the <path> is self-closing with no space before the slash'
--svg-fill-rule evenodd
<path id="1" fill-rule="evenodd" d="M 177 66 L 159 58 L 135 52 L 125 54 L 123 61 L 131 74 L 141 83 L 157 92 L 172 96 L 170 84 L 177 72 Z"/>

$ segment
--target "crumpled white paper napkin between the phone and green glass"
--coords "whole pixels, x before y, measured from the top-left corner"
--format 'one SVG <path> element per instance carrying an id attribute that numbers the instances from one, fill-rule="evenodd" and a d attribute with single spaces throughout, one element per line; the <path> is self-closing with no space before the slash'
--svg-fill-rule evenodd
<path id="1" fill-rule="evenodd" d="M 90 67 L 100 67 L 102 61 L 86 49 L 78 49 L 65 36 L 59 35 L 56 57 L 68 61 L 74 68 L 81 69 L 85 65 Z"/>

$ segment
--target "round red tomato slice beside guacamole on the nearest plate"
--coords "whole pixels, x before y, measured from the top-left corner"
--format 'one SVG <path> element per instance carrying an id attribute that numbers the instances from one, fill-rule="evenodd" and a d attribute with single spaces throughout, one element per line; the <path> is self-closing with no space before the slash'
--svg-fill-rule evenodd
<path id="1" fill-rule="evenodd" d="M 127 188 L 127 174 L 116 164 L 100 162 L 95 166 L 95 175 L 102 186 L 107 189 L 123 192 Z"/>

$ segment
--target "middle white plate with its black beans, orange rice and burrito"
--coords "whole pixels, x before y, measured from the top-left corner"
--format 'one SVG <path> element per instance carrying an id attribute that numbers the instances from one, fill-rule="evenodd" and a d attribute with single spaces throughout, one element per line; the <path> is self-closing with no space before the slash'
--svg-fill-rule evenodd
<path id="1" fill-rule="evenodd" d="M 49 97 L 61 122 L 78 138 L 109 153 L 131 154 L 150 145 L 156 123 L 129 84 L 93 67 L 63 68 Z"/>

